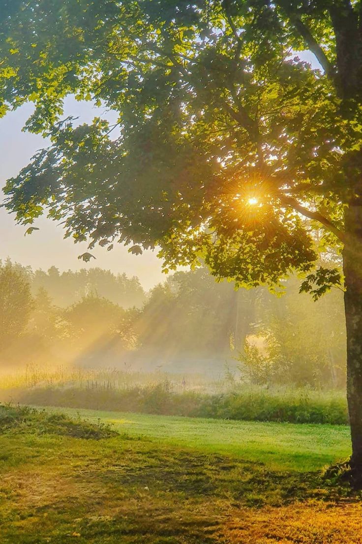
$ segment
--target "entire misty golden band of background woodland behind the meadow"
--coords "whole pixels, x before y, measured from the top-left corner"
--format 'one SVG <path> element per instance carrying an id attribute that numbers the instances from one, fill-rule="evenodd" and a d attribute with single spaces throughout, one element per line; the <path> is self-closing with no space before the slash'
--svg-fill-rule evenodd
<path id="1" fill-rule="evenodd" d="M 182 271 L 146 293 L 137 277 L 101 268 L 0 267 L 2 368 L 27 365 L 237 372 L 251 385 L 345 387 L 343 293 L 235 290 L 206 269 Z"/>

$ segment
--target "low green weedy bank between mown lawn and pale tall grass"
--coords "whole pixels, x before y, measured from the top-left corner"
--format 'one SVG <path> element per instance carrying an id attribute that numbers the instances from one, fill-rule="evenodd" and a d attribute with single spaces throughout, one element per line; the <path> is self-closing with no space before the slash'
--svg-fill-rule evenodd
<path id="1" fill-rule="evenodd" d="M 36 387 L 23 391 L 18 400 L 37 405 L 172 416 L 334 425 L 348 423 L 346 399 L 341 392 L 306 389 L 247 387 L 224 394 L 174 393 L 168 382 L 162 382 L 124 390 Z"/>

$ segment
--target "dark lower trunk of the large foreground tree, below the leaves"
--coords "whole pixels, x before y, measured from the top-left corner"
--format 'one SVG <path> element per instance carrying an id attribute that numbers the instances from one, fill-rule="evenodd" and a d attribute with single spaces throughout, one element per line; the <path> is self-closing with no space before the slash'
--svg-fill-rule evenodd
<path id="1" fill-rule="evenodd" d="M 343 254 L 346 282 L 347 400 L 351 424 L 351 469 L 362 483 L 362 203 L 345 212 L 346 243 Z"/>

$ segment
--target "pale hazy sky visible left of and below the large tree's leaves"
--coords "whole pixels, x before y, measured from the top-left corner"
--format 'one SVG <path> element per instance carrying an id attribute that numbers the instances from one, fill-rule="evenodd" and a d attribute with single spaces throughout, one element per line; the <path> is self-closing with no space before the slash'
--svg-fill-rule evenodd
<path id="1" fill-rule="evenodd" d="M 32 110 L 32 106 L 26 104 L 0 120 L 1 187 L 9 177 L 15 176 L 29 163 L 35 151 L 46 145 L 46 140 L 41 136 L 21 131 Z M 103 109 L 75 102 L 72 98 L 67 100 L 65 113 L 79 115 L 80 122 L 90 122 L 98 115 L 105 116 Z M 87 251 L 86 244 L 74 244 L 69 238 L 64 240 L 61 226 L 47 218 L 40 218 L 35 226 L 40 230 L 24 237 L 26 227 L 16 225 L 14 216 L 0 209 L 0 259 L 9 256 L 13 261 L 44 270 L 52 265 L 60 270 L 99 266 L 115 273 L 136 275 L 146 289 L 166 279 L 161 273 L 160 260 L 154 252 L 147 251 L 141 256 L 131 255 L 127 248 L 117 244 L 113 251 L 94 248 L 91 252 L 97 260 L 84 263 L 78 260 L 78 255 Z"/>

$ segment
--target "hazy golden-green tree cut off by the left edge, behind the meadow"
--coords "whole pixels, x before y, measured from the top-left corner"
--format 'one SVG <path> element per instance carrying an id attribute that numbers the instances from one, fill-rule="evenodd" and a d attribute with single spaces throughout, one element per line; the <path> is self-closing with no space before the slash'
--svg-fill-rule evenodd
<path id="1" fill-rule="evenodd" d="M 23 272 L 10 262 L 0 263 L 0 347 L 21 336 L 26 328 L 33 298 Z"/>

